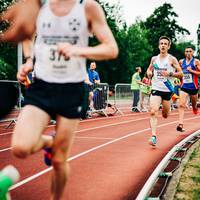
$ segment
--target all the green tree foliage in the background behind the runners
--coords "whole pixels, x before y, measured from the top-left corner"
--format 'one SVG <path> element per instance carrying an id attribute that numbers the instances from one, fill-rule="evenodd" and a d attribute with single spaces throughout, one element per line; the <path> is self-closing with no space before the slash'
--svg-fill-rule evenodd
<path id="1" fill-rule="evenodd" d="M 0 0 L 0 12 L 3 12 L 14 0 Z M 135 24 L 127 26 L 123 18 L 123 7 L 120 2 L 109 3 L 108 0 L 97 0 L 105 12 L 108 25 L 118 43 L 119 56 L 115 60 L 97 62 L 97 70 L 102 82 L 115 84 L 129 83 L 135 67 L 141 66 L 143 72 L 149 65 L 150 58 L 158 53 L 158 39 L 162 35 L 169 36 L 173 45 L 170 53 L 178 59 L 184 57 L 185 45 L 191 42 L 178 42 L 189 31 L 177 23 L 178 15 L 169 3 L 164 3 L 156 8 L 152 15 L 145 21 L 137 20 Z M 5 24 L 0 23 L 0 31 L 5 29 Z M 200 25 L 197 31 L 198 47 L 200 47 Z M 90 45 L 97 45 L 95 37 L 90 38 Z M 8 70 L 4 78 L 15 79 L 17 66 L 17 47 L 13 44 L 0 44 L 0 70 Z M 200 56 L 200 50 L 198 49 Z M 90 61 L 88 61 L 89 64 Z M 12 66 L 12 70 L 10 67 Z M 5 69 L 3 69 L 5 68 Z M 1 76 L 2 78 L 3 76 Z"/>

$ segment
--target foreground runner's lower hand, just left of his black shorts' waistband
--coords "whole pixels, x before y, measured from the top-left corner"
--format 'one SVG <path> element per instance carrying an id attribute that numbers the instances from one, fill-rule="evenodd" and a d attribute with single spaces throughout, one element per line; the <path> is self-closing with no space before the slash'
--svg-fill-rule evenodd
<path id="1" fill-rule="evenodd" d="M 19 71 L 17 72 L 17 80 L 21 83 L 24 83 L 27 80 L 27 75 L 33 70 L 33 64 L 25 63 L 23 64 Z"/>

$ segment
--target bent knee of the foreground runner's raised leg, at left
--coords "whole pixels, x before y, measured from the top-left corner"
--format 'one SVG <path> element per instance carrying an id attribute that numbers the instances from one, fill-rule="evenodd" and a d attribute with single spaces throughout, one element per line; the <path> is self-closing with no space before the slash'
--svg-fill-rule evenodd
<path id="1" fill-rule="evenodd" d="M 26 145 L 13 144 L 12 152 L 18 158 L 26 158 L 31 153 L 31 148 Z"/>

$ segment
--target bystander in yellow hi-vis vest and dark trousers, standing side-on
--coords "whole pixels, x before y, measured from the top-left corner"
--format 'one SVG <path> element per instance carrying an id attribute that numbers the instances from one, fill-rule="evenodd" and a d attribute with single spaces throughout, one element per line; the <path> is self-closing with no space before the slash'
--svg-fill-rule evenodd
<path id="1" fill-rule="evenodd" d="M 140 84 L 141 77 L 140 73 L 142 72 L 141 67 L 136 67 L 136 72 L 132 76 L 132 82 L 131 82 L 131 90 L 133 90 L 133 105 L 132 105 L 132 112 L 140 112 L 137 105 L 140 99 Z"/>

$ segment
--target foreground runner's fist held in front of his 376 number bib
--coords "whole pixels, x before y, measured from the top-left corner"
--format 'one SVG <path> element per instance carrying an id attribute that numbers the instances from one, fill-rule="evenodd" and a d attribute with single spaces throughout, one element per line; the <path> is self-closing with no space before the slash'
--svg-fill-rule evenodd
<path id="1" fill-rule="evenodd" d="M 79 47 L 69 43 L 59 43 L 58 53 L 63 55 L 66 59 L 72 56 L 79 56 Z"/>

